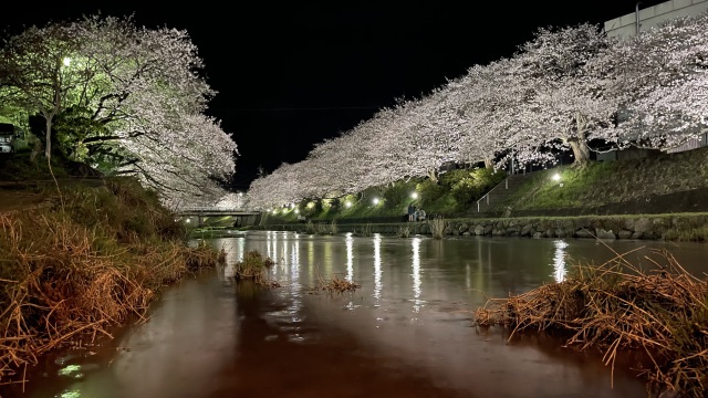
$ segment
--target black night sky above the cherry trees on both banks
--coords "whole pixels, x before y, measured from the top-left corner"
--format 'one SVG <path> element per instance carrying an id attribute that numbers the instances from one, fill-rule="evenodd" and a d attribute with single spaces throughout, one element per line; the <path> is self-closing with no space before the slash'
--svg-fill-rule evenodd
<path id="1" fill-rule="evenodd" d="M 0 28 L 18 31 L 101 11 L 187 30 L 219 92 L 208 113 L 239 146 L 232 188 L 243 190 L 259 166 L 270 172 L 300 161 L 314 144 L 396 98 L 425 95 L 475 64 L 512 55 L 540 27 L 602 24 L 634 12 L 636 1 L 333 3 L 24 1 L 12 12 L 6 8 Z"/>

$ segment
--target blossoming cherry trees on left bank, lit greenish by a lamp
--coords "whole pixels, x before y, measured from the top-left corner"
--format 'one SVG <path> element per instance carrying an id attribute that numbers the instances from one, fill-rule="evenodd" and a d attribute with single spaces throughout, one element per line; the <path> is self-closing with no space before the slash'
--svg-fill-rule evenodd
<path id="1" fill-rule="evenodd" d="M 73 160 L 133 175 L 171 207 L 212 202 L 235 172 L 237 146 L 205 115 L 216 92 L 186 31 L 87 17 L 7 39 L 0 102 L 44 121 Z"/>

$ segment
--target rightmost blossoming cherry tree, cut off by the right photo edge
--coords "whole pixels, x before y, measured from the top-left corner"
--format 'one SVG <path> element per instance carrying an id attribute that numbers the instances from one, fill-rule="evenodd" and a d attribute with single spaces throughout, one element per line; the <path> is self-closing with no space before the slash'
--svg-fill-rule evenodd
<path id="1" fill-rule="evenodd" d="M 620 128 L 627 144 L 669 149 L 708 123 L 708 13 L 683 17 L 617 42 L 614 90 L 623 92 Z"/>

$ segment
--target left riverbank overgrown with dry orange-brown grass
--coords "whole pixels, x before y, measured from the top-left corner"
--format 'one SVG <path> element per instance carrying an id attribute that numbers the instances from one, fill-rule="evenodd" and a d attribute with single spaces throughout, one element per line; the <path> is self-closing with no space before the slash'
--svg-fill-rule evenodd
<path id="1" fill-rule="evenodd" d="M 222 260 L 189 248 L 184 227 L 136 180 L 100 182 L 0 210 L 0 384 L 25 381 L 23 369 L 50 349 L 111 337 L 164 286 Z"/>

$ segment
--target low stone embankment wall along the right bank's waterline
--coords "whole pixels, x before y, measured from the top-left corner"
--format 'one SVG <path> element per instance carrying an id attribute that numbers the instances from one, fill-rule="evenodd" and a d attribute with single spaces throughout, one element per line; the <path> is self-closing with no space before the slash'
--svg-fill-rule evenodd
<path id="1" fill-rule="evenodd" d="M 598 239 L 674 239 L 677 234 L 708 228 L 708 214 L 673 216 L 587 216 L 563 218 L 504 218 L 447 220 L 447 235 L 529 237 L 529 238 L 598 238 Z M 330 223 L 322 223 L 323 230 Z M 273 224 L 269 230 L 305 231 L 308 226 Z M 428 222 L 337 224 L 342 232 L 430 234 Z"/>

